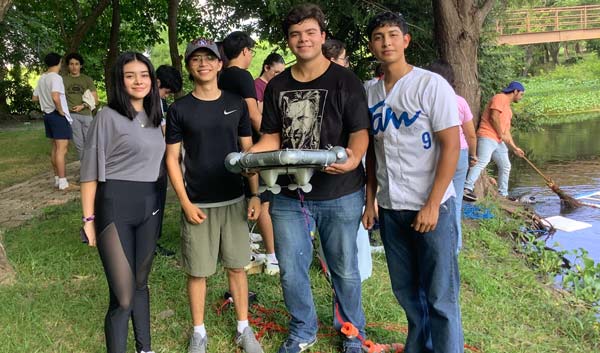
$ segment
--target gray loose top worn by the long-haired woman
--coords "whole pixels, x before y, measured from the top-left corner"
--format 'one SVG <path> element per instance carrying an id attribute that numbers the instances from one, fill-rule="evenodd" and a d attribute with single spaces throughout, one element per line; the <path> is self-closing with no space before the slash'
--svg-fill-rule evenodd
<path id="1" fill-rule="evenodd" d="M 106 107 L 90 125 L 81 160 L 81 182 L 108 179 L 154 182 L 162 168 L 162 130 L 139 112 L 135 119 Z"/>

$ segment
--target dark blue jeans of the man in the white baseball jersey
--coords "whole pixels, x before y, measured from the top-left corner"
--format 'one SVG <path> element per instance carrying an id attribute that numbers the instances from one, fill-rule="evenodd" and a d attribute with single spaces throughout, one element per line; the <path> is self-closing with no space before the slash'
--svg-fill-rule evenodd
<path id="1" fill-rule="evenodd" d="M 410 226 L 417 211 L 379 209 L 392 290 L 408 319 L 406 353 L 463 352 L 454 212 L 450 198 L 436 228 L 419 233 Z"/>

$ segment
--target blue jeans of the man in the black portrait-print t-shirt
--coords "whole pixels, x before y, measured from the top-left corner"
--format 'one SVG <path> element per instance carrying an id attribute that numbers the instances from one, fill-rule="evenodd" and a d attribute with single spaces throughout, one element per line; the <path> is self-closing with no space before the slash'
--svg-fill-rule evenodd
<path id="1" fill-rule="evenodd" d="M 313 260 L 309 232 L 309 229 L 313 229 L 313 224 L 318 230 L 336 293 L 333 326 L 337 330 L 341 327 L 335 312 L 337 306 L 342 319 L 354 324 L 361 335 L 366 337 L 356 247 L 363 204 L 363 190 L 333 200 L 305 200 L 304 209 L 297 199 L 273 196 L 270 213 L 283 299 L 291 316 L 290 338 L 310 342 L 317 337 L 317 313 L 308 272 Z M 358 341 L 353 341 L 352 344 L 360 347 Z"/>

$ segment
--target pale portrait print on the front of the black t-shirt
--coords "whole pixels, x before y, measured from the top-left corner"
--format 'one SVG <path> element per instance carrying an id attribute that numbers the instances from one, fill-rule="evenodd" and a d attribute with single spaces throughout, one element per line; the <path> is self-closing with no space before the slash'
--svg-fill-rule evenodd
<path id="1" fill-rule="evenodd" d="M 327 90 L 283 91 L 279 106 L 283 115 L 282 146 L 318 149 Z"/>

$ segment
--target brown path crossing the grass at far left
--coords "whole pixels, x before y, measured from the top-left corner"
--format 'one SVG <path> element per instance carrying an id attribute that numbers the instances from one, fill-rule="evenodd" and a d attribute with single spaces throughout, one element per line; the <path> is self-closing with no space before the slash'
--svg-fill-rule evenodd
<path id="1" fill-rule="evenodd" d="M 67 165 L 67 176 L 69 181 L 79 179 L 79 162 Z M 14 281 L 14 270 L 2 246 L 4 232 L 38 216 L 45 207 L 79 198 L 79 188 L 59 191 L 53 183 L 52 173 L 47 172 L 0 190 L 0 285 Z"/>

